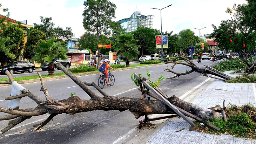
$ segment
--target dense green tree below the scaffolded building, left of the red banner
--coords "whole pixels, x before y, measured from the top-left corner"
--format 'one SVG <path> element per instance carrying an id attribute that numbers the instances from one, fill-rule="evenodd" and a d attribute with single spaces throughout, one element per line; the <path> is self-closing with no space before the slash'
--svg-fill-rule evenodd
<path id="1" fill-rule="evenodd" d="M 141 55 L 150 55 L 157 53 L 155 36 L 159 35 L 159 31 L 147 27 L 138 27 L 132 32 L 135 40 L 139 40 L 137 45 L 140 46 Z"/>

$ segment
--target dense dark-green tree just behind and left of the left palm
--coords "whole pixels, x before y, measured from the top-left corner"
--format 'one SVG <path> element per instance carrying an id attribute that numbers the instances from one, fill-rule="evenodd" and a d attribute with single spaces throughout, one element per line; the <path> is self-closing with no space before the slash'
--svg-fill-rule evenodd
<path id="1" fill-rule="evenodd" d="M 36 43 L 41 40 L 46 40 L 46 35 L 38 29 L 29 29 L 27 32 L 27 42 L 25 44 L 25 50 L 23 51 L 23 57 L 27 60 L 31 60 L 34 56 L 34 49 L 36 48 Z"/>

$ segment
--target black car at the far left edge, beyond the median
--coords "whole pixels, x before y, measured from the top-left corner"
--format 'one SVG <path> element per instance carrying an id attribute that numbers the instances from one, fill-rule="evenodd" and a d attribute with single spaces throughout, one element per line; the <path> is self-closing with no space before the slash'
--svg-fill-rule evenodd
<path id="1" fill-rule="evenodd" d="M 6 70 L 8 70 L 10 72 L 10 74 L 13 74 L 15 72 L 25 73 L 25 71 L 32 73 L 33 70 L 35 70 L 35 64 L 30 63 L 30 62 L 9 63 L 0 69 L 1 75 L 4 75 Z"/>

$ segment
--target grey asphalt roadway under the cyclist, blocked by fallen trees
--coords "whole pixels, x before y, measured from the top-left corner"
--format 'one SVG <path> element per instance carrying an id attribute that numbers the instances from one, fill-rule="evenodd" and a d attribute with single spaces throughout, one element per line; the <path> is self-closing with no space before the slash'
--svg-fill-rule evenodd
<path id="1" fill-rule="evenodd" d="M 195 61 L 194 61 L 195 62 Z M 201 63 L 196 63 L 198 67 L 203 67 L 203 64 L 212 65 L 216 62 L 210 62 L 209 60 L 202 60 Z M 170 64 L 169 64 L 170 67 Z M 164 71 L 167 66 L 151 66 L 144 68 L 129 69 L 123 71 L 114 71 L 112 74 L 115 76 L 114 86 L 105 86 L 105 90 L 110 96 L 116 97 L 134 97 L 140 98 L 140 91 L 137 89 L 135 84 L 130 80 L 130 76 L 133 72 L 141 73 L 146 76 L 146 69 L 151 73 L 151 81 L 156 81 L 159 76 L 171 77 L 174 74 Z M 183 65 L 176 65 L 173 69 L 176 72 L 185 72 L 190 70 L 189 67 Z M 79 77 L 82 81 L 97 82 L 97 78 L 100 74 L 81 76 Z M 164 80 L 160 84 L 161 90 L 167 95 L 182 96 L 196 85 L 200 84 L 207 77 L 201 76 L 199 73 L 191 73 L 176 77 L 172 80 Z M 70 97 L 71 93 L 76 93 L 81 99 L 90 99 L 90 97 L 81 90 L 70 78 L 45 81 L 45 87 L 49 91 L 51 98 L 62 100 Z M 45 96 L 40 91 L 41 84 L 30 83 L 22 84 L 23 87 L 34 92 L 43 100 Z M 96 94 L 100 95 L 96 89 L 91 88 Z M 8 97 L 11 92 L 11 87 L 0 87 L 0 107 L 6 108 L 8 101 L 4 98 Z M 23 97 L 20 102 L 20 108 L 33 108 L 37 104 L 29 99 Z M 5 115 L 0 113 L 0 115 Z M 53 118 L 46 126 L 39 131 L 32 130 L 34 124 L 43 122 L 49 114 L 42 116 L 34 116 L 26 121 L 16 125 L 11 130 L 0 135 L 1 143 L 8 144 L 53 144 L 53 143 L 99 143 L 99 144 L 114 144 L 114 143 L 126 143 L 131 140 L 138 131 L 137 124 L 139 121 L 128 111 L 91 111 L 74 114 L 73 116 L 61 114 Z M 144 118 L 144 117 L 142 117 Z M 5 128 L 9 121 L 1 121 L 0 129 Z"/>

